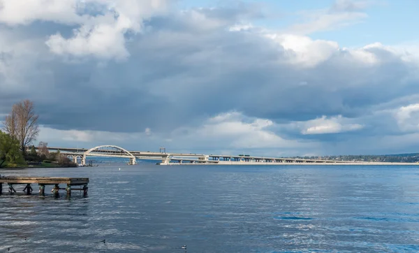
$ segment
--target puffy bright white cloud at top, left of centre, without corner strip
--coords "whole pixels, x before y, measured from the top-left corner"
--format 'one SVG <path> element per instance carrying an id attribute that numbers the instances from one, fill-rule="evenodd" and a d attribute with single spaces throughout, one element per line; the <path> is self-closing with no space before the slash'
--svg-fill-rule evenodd
<path id="1" fill-rule="evenodd" d="M 94 1 L 94 0 L 90 0 Z M 129 56 L 125 48 L 126 33 L 138 33 L 143 20 L 166 8 L 166 0 L 118 0 L 99 1 L 106 4 L 108 12 L 103 16 L 89 17 L 72 38 L 61 34 L 50 36 L 46 42 L 51 51 L 58 55 L 94 55 L 99 58 L 125 59 Z"/>

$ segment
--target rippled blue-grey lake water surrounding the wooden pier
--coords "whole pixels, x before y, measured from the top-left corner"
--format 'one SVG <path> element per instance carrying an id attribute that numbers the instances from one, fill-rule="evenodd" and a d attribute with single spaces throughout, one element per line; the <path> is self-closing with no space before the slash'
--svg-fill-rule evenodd
<path id="1" fill-rule="evenodd" d="M 19 191 L 0 196 L 0 252 L 185 252 L 181 245 L 189 253 L 419 250 L 416 166 L 140 165 L 0 173 L 90 178 L 87 198 L 73 192 L 68 200 L 64 191 L 58 199 Z"/>

